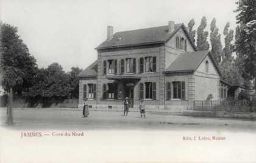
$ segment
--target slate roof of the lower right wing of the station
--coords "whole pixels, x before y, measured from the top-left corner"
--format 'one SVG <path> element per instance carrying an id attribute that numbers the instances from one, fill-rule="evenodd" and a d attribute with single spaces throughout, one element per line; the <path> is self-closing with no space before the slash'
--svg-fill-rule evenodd
<path id="1" fill-rule="evenodd" d="M 216 71 L 219 75 L 221 75 L 221 72 L 219 71 L 219 68 L 210 54 L 208 50 L 202 50 L 197 52 L 186 52 L 180 54 L 176 60 L 167 68 L 165 69 L 164 73 L 168 72 L 194 72 L 198 68 L 198 66 L 202 63 L 204 58 L 206 56 L 209 56 L 212 60 L 213 65 L 215 66 Z"/>

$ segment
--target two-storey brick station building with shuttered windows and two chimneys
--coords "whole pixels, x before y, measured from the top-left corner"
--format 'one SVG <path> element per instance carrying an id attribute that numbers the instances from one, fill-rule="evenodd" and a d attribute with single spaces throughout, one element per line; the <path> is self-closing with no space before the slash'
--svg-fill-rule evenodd
<path id="1" fill-rule="evenodd" d="M 194 100 L 219 100 L 221 73 L 208 51 L 197 51 L 184 24 L 113 34 L 96 47 L 98 60 L 79 74 L 79 107 L 189 109 Z"/>

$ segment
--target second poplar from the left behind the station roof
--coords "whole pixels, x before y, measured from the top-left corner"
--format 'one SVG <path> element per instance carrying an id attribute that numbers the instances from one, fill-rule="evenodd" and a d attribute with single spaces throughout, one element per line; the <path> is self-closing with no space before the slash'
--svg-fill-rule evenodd
<path id="1" fill-rule="evenodd" d="M 209 43 L 207 41 L 208 32 L 204 31 L 205 27 L 207 26 L 207 19 L 205 16 L 202 17 L 201 23 L 197 28 L 197 40 L 196 40 L 196 49 L 197 50 L 208 50 Z"/>

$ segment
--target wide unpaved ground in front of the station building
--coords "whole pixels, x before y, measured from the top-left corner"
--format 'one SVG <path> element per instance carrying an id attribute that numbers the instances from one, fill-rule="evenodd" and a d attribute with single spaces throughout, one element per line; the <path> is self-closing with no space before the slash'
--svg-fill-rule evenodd
<path id="1" fill-rule="evenodd" d="M 175 116 L 146 113 L 146 119 L 138 112 L 123 116 L 120 111 L 90 111 L 82 117 L 82 111 L 64 109 L 14 109 L 13 130 L 167 130 L 167 131 L 246 131 L 255 132 L 252 120 L 218 119 L 209 117 Z M 1 127 L 5 127 L 6 108 L 0 109 Z"/>

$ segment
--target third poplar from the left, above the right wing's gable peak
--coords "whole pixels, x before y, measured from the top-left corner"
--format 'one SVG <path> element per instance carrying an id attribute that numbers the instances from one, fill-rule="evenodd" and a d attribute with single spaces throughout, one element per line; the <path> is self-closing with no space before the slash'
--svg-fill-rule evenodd
<path id="1" fill-rule="evenodd" d="M 216 19 L 213 18 L 212 23 L 211 23 L 211 33 L 210 33 L 210 42 L 212 46 L 212 55 L 213 58 L 215 58 L 215 61 L 217 63 L 221 62 L 221 49 L 222 49 L 222 44 L 221 44 L 221 34 L 219 34 L 219 29 L 216 27 Z"/>

